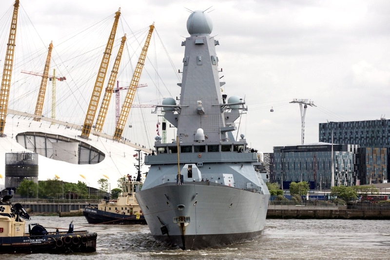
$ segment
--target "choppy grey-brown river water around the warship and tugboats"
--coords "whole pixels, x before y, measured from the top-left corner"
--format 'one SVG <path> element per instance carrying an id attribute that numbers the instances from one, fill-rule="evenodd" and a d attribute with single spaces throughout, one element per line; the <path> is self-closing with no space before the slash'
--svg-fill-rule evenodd
<path id="1" fill-rule="evenodd" d="M 270 219 L 266 221 L 263 235 L 256 240 L 198 251 L 170 250 L 157 244 L 147 225 L 89 225 L 84 217 L 46 216 L 33 216 L 27 223 L 67 229 L 71 220 L 75 230 L 98 233 L 96 253 L 23 255 L 23 260 L 390 259 L 390 220 Z M 16 258 L 16 255 L 0 255 L 0 260 Z"/>

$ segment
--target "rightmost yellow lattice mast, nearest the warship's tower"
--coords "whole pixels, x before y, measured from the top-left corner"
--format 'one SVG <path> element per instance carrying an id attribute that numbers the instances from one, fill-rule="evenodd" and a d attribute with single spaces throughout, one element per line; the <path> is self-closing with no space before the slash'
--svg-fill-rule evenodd
<path id="1" fill-rule="evenodd" d="M 130 87 L 127 91 L 126 98 L 123 102 L 122 110 L 120 111 L 119 120 L 117 122 L 117 126 L 115 128 L 115 133 L 113 136 L 114 140 L 119 141 L 122 136 L 125 123 L 130 113 L 131 105 L 136 95 L 137 85 L 139 82 L 139 78 L 141 77 L 143 65 L 145 64 L 146 53 L 148 52 L 149 43 L 150 43 L 150 39 L 152 38 L 152 33 L 154 28 L 155 28 L 155 23 L 150 25 L 148 36 L 146 37 L 145 44 L 141 51 L 141 55 L 139 55 L 136 70 L 134 71 L 133 78 L 130 82 Z"/>

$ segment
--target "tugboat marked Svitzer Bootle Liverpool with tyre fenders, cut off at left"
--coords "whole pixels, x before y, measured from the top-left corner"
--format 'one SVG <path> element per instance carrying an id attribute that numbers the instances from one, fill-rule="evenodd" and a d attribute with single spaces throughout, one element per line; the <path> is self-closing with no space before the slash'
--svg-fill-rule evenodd
<path id="1" fill-rule="evenodd" d="M 90 253 L 96 251 L 95 232 L 73 231 L 72 222 L 67 232 L 48 232 L 43 226 L 28 225 L 30 216 L 20 203 L 12 205 L 13 195 L 0 198 L 0 254 L 16 253 Z"/>

